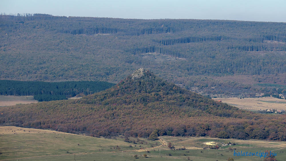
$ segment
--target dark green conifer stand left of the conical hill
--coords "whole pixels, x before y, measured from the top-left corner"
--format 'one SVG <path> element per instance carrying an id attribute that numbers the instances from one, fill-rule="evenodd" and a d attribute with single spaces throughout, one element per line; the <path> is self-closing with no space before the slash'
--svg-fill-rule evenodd
<path id="1" fill-rule="evenodd" d="M 65 100 L 106 90 L 115 84 L 98 81 L 33 82 L 0 80 L 0 95 L 34 96 L 38 101 Z"/>

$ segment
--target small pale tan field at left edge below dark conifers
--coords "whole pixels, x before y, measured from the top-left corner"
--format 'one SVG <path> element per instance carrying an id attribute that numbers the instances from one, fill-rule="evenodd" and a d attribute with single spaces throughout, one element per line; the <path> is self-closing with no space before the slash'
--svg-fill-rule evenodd
<path id="1" fill-rule="evenodd" d="M 0 106 L 37 103 L 33 96 L 0 96 Z"/>

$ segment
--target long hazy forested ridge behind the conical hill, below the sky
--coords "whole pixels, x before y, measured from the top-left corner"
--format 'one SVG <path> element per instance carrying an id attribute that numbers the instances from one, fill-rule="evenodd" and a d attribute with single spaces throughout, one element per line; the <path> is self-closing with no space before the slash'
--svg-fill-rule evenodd
<path id="1" fill-rule="evenodd" d="M 285 96 L 285 31 L 277 22 L 2 14 L 0 79 L 118 83 L 144 67 L 211 97 Z"/>

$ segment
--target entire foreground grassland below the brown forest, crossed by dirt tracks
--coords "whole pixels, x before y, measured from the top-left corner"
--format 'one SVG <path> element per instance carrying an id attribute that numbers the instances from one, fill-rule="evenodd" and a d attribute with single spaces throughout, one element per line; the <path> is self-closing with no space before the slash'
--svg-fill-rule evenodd
<path id="1" fill-rule="evenodd" d="M 94 138 L 51 130 L 0 127 L 0 160 L 262 160 L 255 156 L 234 156 L 234 152 L 265 152 L 286 148 L 285 142 L 161 136 L 151 141 L 122 136 Z M 136 142 L 136 144 L 134 144 Z M 171 143 L 176 150 L 168 148 Z M 208 143 L 219 149 L 203 149 Z M 233 143 L 236 145 L 222 146 Z M 250 146 L 249 146 L 250 144 Z M 186 150 L 178 150 L 179 148 Z M 210 147 L 210 146 L 209 146 Z M 232 149 L 230 149 L 232 148 Z M 236 150 L 234 151 L 234 148 Z M 277 160 L 286 158 L 286 149 L 275 151 Z M 75 153 L 75 154 L 74 154 Z M 144 154 L 147 157 L 144 157 Z M 134 157 L 137 155 L 137 157 Z"/>

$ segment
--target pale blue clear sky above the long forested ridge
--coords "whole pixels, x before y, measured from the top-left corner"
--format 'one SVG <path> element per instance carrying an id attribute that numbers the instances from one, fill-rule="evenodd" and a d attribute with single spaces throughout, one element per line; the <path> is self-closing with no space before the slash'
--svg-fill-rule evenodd
<path id="1" fill-rule="evenodd" d="M 286 22 L 285 0 L 1 0 L 5 14 Z"/>

